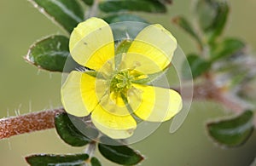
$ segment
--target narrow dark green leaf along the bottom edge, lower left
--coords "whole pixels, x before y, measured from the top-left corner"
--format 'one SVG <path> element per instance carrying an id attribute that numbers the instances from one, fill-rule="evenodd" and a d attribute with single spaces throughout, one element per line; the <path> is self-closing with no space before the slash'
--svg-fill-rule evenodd
<path id="1" fill-rule="evenodd" d="M 50 155 L 37 154 L 26 157 L 26 162 L 32 166 L 82 166 L 84 161 L 89 158 L 88 154 L 73 154 L 73 155 Z"/>

